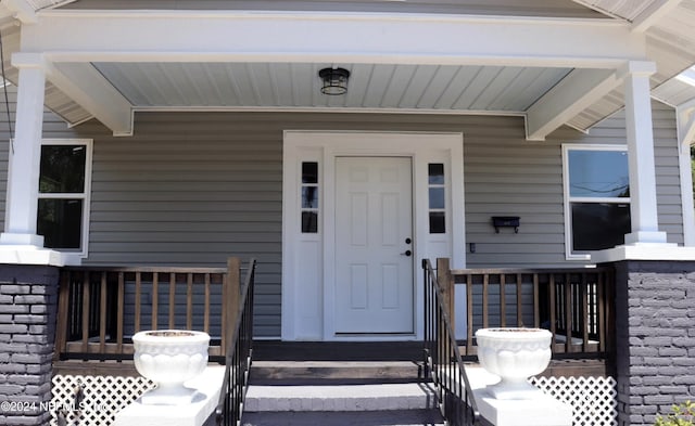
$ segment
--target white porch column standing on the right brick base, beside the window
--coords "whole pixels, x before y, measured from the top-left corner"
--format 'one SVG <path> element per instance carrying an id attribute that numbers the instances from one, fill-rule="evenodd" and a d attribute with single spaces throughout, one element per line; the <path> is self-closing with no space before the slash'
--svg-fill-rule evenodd
<path id="1" fill-rule="evenodd" d="M 649 76 L 656 72 L 652 62 L 630 62 L 624 69 L 626 126 L 630 164 L 630 215 L 632 232 L 626 244 L 662 244 L 659 232 L 654 165 L 654 130 Z"/>

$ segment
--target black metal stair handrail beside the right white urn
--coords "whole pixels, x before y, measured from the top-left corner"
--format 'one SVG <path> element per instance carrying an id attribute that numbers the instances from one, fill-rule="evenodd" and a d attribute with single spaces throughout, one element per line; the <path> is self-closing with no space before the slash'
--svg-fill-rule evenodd
<path id="1" fill-rule="evenodd" d="M 452 426 L 486 426 L 473 398 L 443 292 L 428 259 L 425 275 L 425 374 L 437 386 L 442 415 Z M 442 271 L 438 271 L 442 273 Z"/>

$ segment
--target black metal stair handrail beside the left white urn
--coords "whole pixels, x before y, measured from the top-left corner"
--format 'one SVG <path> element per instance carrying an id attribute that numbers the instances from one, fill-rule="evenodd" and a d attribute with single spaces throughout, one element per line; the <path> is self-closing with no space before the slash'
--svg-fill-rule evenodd
<path id="1" fill-rule="evenodd" d="M 215 409 L 217 425 L 237 426 L 241 419 L 248 388 L 253 340 L 253 288 L 256 260 L 251 259 L 240 291 L 239 310 L 231 328 L 225 360 L 225 378 Z M 235 295 L 232 295 L 233 297 Z"/>

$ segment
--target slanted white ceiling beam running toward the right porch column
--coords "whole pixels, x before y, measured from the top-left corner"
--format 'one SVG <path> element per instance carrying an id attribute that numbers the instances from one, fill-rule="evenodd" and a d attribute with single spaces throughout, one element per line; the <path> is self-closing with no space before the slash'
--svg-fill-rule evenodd
<path id="1" fill-rule="evenodd" d="M 619 83 L 612 70 L 574 69 L 527 111 L 527 140 L 544 141 Z"/>

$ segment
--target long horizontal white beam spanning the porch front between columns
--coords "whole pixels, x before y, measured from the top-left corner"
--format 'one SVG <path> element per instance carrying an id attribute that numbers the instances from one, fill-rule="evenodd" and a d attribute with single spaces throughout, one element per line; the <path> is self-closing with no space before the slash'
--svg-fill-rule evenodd
<path id="1" fill-rule="evenodd" d="M 192 11 L 39 13 L 22 50 L 54 62 L 350 62 L 616 68 L 644 35 L 609 20 Z"/>

